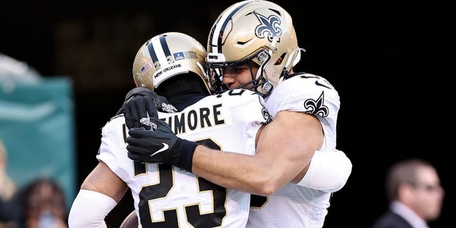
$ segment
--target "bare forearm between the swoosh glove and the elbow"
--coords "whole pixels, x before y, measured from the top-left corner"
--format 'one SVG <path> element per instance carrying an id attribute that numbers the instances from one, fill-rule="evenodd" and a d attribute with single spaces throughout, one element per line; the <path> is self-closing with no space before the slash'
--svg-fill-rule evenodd
<path id="1" fill-rule="evenodd" d="M 221 152 L 198 146 L 193 155 L 192 172 L 221 185 L 256 195 L 270 195 L 278 188 L 271 185 L 274 174 L 261 157 Z"/>

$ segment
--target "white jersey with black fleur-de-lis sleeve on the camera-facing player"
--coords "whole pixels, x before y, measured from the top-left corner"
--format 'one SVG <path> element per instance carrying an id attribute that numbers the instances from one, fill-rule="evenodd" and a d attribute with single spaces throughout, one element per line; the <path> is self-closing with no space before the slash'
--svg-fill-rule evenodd
<path id="1" fill-rule="evenodd" d="M 281 110 L 316 115 L 324 131 L 321 151 L 336 149 L 337 91 L 325 78 L 299 73 L 282 81 L 265 98 L 274 119 Z M 323 227 L 331 193 L 287 184 L 269 197 L 252 195 L 247 227 Z"/>

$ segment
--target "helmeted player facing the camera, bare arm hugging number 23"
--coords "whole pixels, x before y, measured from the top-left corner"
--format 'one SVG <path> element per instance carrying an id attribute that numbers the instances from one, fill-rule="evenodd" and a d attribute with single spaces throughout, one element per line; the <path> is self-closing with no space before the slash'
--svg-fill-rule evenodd
<path id="1" fill-rule="evenodd" d="M 261 131 L 256 155 L 133 128 L 128 157 L 191 167 L 218 185 L 261 195 L 252 197 L 247 227 L 323 227 L 331 194 L 346 184 L 352 165 L 336 150 L 337 90 L 321 76 L 293 71 L 302 49 L 291 16 L 271 1 L 240 1 L 219 15 L 207 41 L 214 83 L 263 95 L 274 119 Z M 153 155 L 161 142 L 169 149 Z"/>

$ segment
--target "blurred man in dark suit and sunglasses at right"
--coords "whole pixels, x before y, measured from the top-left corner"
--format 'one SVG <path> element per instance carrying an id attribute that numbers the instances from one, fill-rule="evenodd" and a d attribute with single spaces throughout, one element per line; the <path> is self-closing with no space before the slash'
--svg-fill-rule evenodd
<path id="1" fill-rule="evenodd" d="M 445 191 L 429 162 L 416 158 L 397 162 L 385 180 L 390 206 L 372 228 L 427 228 L 428 222 L 440 217 Z"/>

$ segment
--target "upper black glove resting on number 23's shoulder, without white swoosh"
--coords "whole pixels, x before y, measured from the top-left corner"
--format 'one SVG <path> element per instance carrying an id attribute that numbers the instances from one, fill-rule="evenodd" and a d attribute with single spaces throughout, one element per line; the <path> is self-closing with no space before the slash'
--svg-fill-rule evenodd
<path id="1" fill-rule="evenodd" d="M 122 108 L 117 115 L 123 113 L 125 124 L 130 128 L 140 128 L 140 119 L 157 117 L 157 110 L 165 113 L 175 113 L 177 109 L 161 95 L 145 87 L 136 87 L 125 96 Z M 147 116 L 148 114 L 148 116 Z"/>

